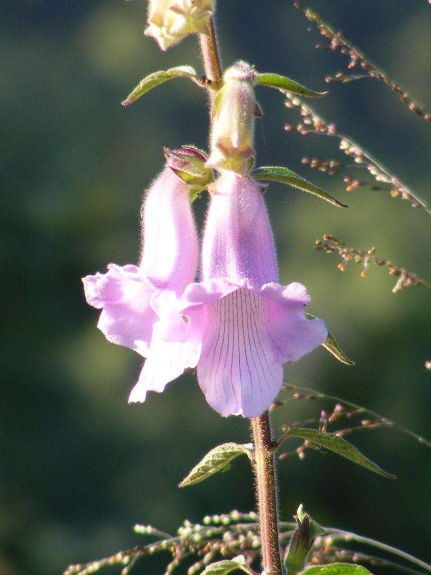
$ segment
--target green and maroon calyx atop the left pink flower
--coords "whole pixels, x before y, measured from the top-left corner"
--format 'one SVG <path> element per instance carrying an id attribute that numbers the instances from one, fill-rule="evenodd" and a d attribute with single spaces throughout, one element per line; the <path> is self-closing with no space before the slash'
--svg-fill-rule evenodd
<path id="1" fill-rule="evenodd" d="M 190 201 L 195 200 L 213 179 L 212 171 L 205 166 L 206 155 L 190 145 L 182 146 L 179 150 L 164 148 L 164 154 L 167 166 L 188 184 Z"/>

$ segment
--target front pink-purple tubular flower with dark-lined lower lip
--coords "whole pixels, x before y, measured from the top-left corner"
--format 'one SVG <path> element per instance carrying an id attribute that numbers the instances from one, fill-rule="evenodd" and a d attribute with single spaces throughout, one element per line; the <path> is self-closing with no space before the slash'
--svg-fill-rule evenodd
<path id="1" fill-rule="evenodd" d="M 160 337 L 195 346 L 199 385 L 222 416 L 259 416 L 282 386 L 282 364 L 319 346 L 327 332 L 322 320 L 306 319 L 310 297 L 301 283 L 277 283 L 267 213 L 249 175 L 226 171 L 216 183 L 202 275 L 184 291 L 177 315 L 166 294 L 153 299 Z"/>

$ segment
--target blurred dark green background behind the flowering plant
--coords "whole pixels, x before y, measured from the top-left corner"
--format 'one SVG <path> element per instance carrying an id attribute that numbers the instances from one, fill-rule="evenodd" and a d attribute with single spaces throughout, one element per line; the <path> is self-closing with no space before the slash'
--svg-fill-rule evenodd
<path id="1" fill-rule="evenodd" d="M 431 108 L 425 0 L 310 5 Z M 177 64 L 202 70 L 193 37 L 167 53 L 143 37 L 145 9 L 143 0 L 0 6 L 2 575 L 58 574 L 71 562 L 114 553 L 139 542 L 136 522 L 173 531 L 186 517 L 253 507 L 247 461 L 193 488 L 176 487 L 216 443 L 247 442 L 247 421 L 211 411 L 190 375 L 129 406 L 140 358 L 105 340 L 95 327 L 98 312 L 83 298 L 83 275 L 136 262 L 141 195 L 162 167 L 162 146 L 206 146 L 206 97 L 191 83 L 168 83 L 127 109 L 120 105 L 151 71 Z M 315 51 L 320 36 L 288 1 L 220 0 L 217 22 L 225 65 L 242 58 L 319 90 L 345 62 Z M 329 87 L 315 108 L 430 202 L 431 126 L 382 84 Z M 320 348 L 289 366 L 286 381 L 367 405 L 430 438 L 424 363 L 431 359 L 431 292 L 394 295 L 384 269 L 361 279 L 351 264 L 341 274 L 337 256 L 313 250 L 322 233 L 333 233 L 358 248 L 376 246 L 383 258 L 430 279 L 430 217 L 387 192 L 347 192 L 341 178 L 302 166 L 303 155 L 345 156 L 329 138 L 285 132 L 297 113 L 277 91 L 257 96 L 265 112 L 257 162 L 286 165 L 350 206 L 337 209 L 277 185 L 267 192 L 280 279 L 305 283 L 311 313 L 324 317 L 356 362 L 345 367 Z M 206 200 L 195 204 L 202 221 Z M 297 402 L 280 409 L 276 423 L 318 416 L 322 407 Z M 309 451 L 304 461 L 279 465 L 282 516 L 303 502 L 322 524 L 430 561 L 430 451 L 392 430 L 351 439 L 398 480 Z M 148 570 L 163 567 L 136 567 Z"/>

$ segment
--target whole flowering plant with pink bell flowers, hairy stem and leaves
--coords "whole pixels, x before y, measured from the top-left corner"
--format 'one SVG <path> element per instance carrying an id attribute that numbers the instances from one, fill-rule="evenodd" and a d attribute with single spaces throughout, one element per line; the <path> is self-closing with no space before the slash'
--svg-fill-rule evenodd
<path id="1" fill-rule="evenodd" d="M 162 392 L 169 382 L 192 368 L 213 409 L 221 416 L 250 419 L 251 443 L 214 448 L 180 486 L 205 480 L 245 454 L 255 473 L 258 513 L 206 517 L 203 523 L 207 527 L 185 523 L 174 538 L 137 526 L 138 532 L 161 536 L 160 545 L 134 548 L 87 566 L 72 566 L 68 574 L 93 573 L 113 563 L 125 563 L 123 573 L 128 573 L 141 555 L 168 549 L 174 560 L 167 573 L 184 557 L 196 554 L 201 559 L 189 569 L 190 575 L 225 575 L 233 570 L 253 575 L 260 553 L 266 575 L 312 575 L 313 568 L 307 568 L 310 553 L 314 553 L 313 563 L 330 563 L 338 557 L 330 547 L 333 530 L 320 527 L 302 506 L 296 523 L 282 523 L 279 529 L 274 452 L 284 439 L 301 438 L 303 448 L 320 446 L 392 477 L 343 439 L 343 433 L 326 431 L 324 415 L 318 430 L 287 427 L 278 439 L 271 435 L 269 410 L 283 404 L 277 397 L 282 388 L 288 388 L 283 386 L 283 364 L 298 361 L 321 344 L 339 361 L 346 365 L 352 362 L 324 322 L 305 312 L 310 303 L 306 287 L 298 282 L 280 285 L 263 196 L 268 183 L 261 182 L 282 182 L 334 206 L 345 206 L 288 168 L 254 167 L 253 130 L 261 116 L 257 87 L 273 87 L 290 96 L 321 97 L 324 93 L 308 90 L 285 76 L 261 74 L 243 61 L 223 73 L 213 13 L 210 0 L 149 2 L 145 34 L 163 50 L 188 34 L 198 34 L 205 75 L 199 78 L 189 66 L 155 72 L 144 78 L 123 104 L 131 104 L 168 79 L 191 79 L 209 93 L 210 150 L 203 152 L 193 145 L 164 150 L 163 171 L 144 196 L 140 262 L 125 266 L 111 263 L 106 273 L 88 275 L 83 283 L 88 304 L 101 310 L 98 327 L 106 339 L 145 358 L 130 402 L 144 402 L 148 392 Z M 209 207 L 199 241 L 193 202 L 205 191 Z M 311 291 L 317 289 L 313 286 Z M 145 405 L 141 409 L 145 410 Z M 337 404 L 333 421 L 343 409 Z M 387 423 L 391 422 L 382 419 L 372 424 Z M 353 534 L 336 532 L 355 539 Z M 222 560 L 214 562 L 216 558 Z M 351 567 L 335 563 L 318 573 L 369 574 L 360 566 L 354 571 Z"/>

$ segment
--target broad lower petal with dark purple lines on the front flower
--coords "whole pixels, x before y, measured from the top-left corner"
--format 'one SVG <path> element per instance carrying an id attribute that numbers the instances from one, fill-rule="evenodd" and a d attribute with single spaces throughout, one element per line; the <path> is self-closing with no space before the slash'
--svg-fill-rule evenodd
<path id="1" fill-rule="evenodd" d="M 214 301 L 198 363 L 199 385 L 211 407 L 222 416 L 257 417 L 271 405 L 282 379 L 261 296 L 240 288 Z"/>

